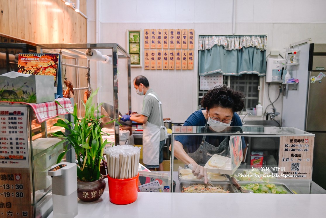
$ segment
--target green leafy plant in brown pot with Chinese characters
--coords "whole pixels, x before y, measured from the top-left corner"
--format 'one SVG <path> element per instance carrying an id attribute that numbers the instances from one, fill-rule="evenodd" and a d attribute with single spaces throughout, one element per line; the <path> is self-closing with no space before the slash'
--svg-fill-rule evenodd
<path id="1" fill-rule="evenodd" d="M 63 138 L 62 141 L 57 143 L 57 146 L 67 142 L 64 151 L 57 159 L 57 163 L 62 161 L 62 158 L 69 150 L 68 144 L 70 144 L 72 147 L 70 149 L 74 149 L 76 152 L 78 197 L 83 201 L 97 200 L 103 194 L 105 188 L 103 175 L 100 174 L 100 163 L 103 160 L 103 149 L 108 141 L 103 142 L 102 135 L 109 134 L 103 132 L 101 127 L 103 126 L 101 125 L 101 118 L 105 117 L 105 115 L 99 115 L 99 108 L 102 103 L 97 106 L 92 103 L 97 92 L 98 89 L 90 95 L 86 104 L 83 102 L 85 107 L 84 117 L 77 116 L 77 104 L 75 104 L 71 114 L 73 121 L 58 119 L 57 123 L 53 124 L 53 126 L 64 127 L 66 131 L 69 131 L 67 135 L 62 131 L 52 133 L 54 136 Z M 87 191 L 85 190 L 87 186 L 93 189 Z M 95 186 L 98 186 L 96 190 L 94 189 Z"/>

